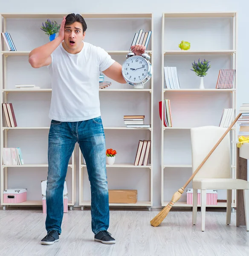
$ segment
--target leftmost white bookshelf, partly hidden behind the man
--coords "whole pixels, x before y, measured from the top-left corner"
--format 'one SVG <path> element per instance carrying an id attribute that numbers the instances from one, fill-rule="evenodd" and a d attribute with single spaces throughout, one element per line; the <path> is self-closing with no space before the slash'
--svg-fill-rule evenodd
<path id="1" fill-rule="evenodd" d="M 54 17 L 62 18 L 63 17 L 63 15 L 57 15 L 57 14 L 50 14 L 48 16 L 52 17 L 52 18 L 54 18 Z M 40 14 L 1 14 L 0 15 L 0 32 L 6 32 L 6 29 L 8 29 L 8 30 L 11 29 L 12 31 L 10 34 L 12 35 L 12 39 L 14 41 L 15 46 L 17 48 L 20 48 L 20 47 L 24 48 L 25 44 L 23 44 L 21 46 L 20 41 L 18 41 L 19 38 L 16 34 L 18 32 L 23 33 L 22 37 L 20 37 L 20 40 L 26 41 L 26 40 L 24 40 L 26 37 L 25 31 L 23 31 L 22 28 L 19 28 L 20 30 L 18 30 L 18 29 L 13 29 L 13 27 L 16 26 L 18 24 L 18 22 L 22 23 L 23 20 L 26 20 L 26 19 L 32 19 L 32 21 L 35 21 L 40 17 L 45 18 L 48 16 L 46 16 L 46 14 L 44 14 L 44 15 L 40 15 Z M 13 27 L 8 26 L 9 22 L 12 23 L 12 25 L 13 24 L 15 24 L 15 25 Z M 32 28 L 30 28 L 30 29 L 32 29 Z M 38 27 L 38 29 L 39 29 L 39 27 Z M 39 36 L 37 38 L 39 38 Z M 15 40 L 15 39 L 17 39 L 17 40 Z M 17 107 L 15 108 L 15 103 L 16 103 L 15 99 L 17 99 L 17 98 L 15 98 L 13 96 L 16 95 L 15 94 L 16 92 L 19 93 L 17 100 L 19 102 L 21 102 L 22 99 L 23 99 L 23 102 L 25 102 L 27 100 L 26 104 L 29 104 L 28 103 L 29 99 L 32 101 L 32 97 L 36 97 L 35 95 L 37 95 L 37 93 L 42 94 L 42 93 L 47 93 L 47 92 L 51 93 L 52 92 L 51 86 L 50 86 L 50 88 L 46 88 L 46 85 L 42 84 L 43 83 L 42 81 L 40 81 L 41 89 L 39 89 L 39 90 L 16 89 L 14 87 L 14 84 L 9 81 L 9 80 L 11 80 L 11 75 L 9 73 L 11 68 L 8 66 L 8 61 L 9 60 L 12 61 L 11 58 L 16 58 L 15 60 L 17 60 L 20 64 L 20 66 L 19 66 L 20 68 L 15 67 L 15 70 L 11 70 L 13 73 L 15 73 L 15 72 L 18 73 L 19 72 L 18 70 L 22 69 L 23 64 L 30 66 L 30 64 L 28 63 L 28 55 L 29 55 L 29 52 L 31 49 L 38 47 L 38 45 L 40 45 L 40 44 L 37 44 L 38 41 L 36 41 L 36 44 L 33 44 L 32 47 L 31 46 L 27 47 L 27 48 L 29 48 L 29 50 L 20 50 L 20 51 L 13 51 L 13 52 L 10 51 L 9 52 L 6 50 L 6 44 L 1 35 L 1 40 L 0 40 L 0 51 L 1 51 L 1 57 L 0 57 L 1 58 L 1 61 L 0 61 L 0 90 L 1 90 L 0 102 L 1 103 L 2 102 L 12 102 L 13 103 L 13 108 L 14 108 L 16 119 L 17 119 L 17 125 L 18 125 L 18 123 L 20 124 L 21 122 L 23 124 L 25 124 L 25 121 L 21 120 L 20 116 L 18 116 L 18 113 L 20 113 L 19 109 Z M 44 41 L 44 43 L 45 43 L 45 41 Z M 13 63 L 13 61 L 12 61 L 12 63 Z M 28 71 L 27 71 L 27 76 L 29 76 L 33 71 L 34 70 L 32 70 L 30 73 L 28 73 Z M 20 71 L 20 72 L 23 72 L 23 71 Z M 15 82 L 19 83 L 18 79 Z M 28 93 L 28 96 L 27 96 L 27 93 Z M 48 96 L 48 94 L 46 94 L 45 97 L 47 97 L 47 96 Z M 50 94 L 49 94 L 49 97 L 51 97 Z M 41 98 L 41 101 L 43 99 L 44 98 Z M 2 108 L 2 106 L 1 106 L 1 108 Z M 29 121 L 29 113 L 26 115 L 26 121 Z M 14 205 L 15 206 L 19 206 L 19 205 L 20 206 L 42 206 L 41 180 L 46 180 L 46 178 L 47 178 L 48 163 L 40 163 L 39 160 L 38 160 L 38 163 L 29 163 L 29 161 L 25 157 L 23 157 L 23 160 L 25 163 L 24 165 L 20 165 L 20 166 L 13 166 L 13 165 L 6 166 L 5 165 L 4 166 L 3 165 L 3 148 L 4 147 L 17 147 L 15 145 L 15 143 L 13 141 L 11 141 L 12 137 L 15 137 L 15 138 L 18 138 L 19 143 L 22 142 L 23 147 L 20 147 L 20 148 L 21 148 L 23 156 L 27 155 L 27 154 L 29 155 L 31 150 L 30 150 L 30 148 L 28 148 L 28 145 L 25 146 L 25 140 L 28 140 L 29 135 L 33 132 L 35 132 L 36 137 L 40 137 L 41 132 L 44 130 L 47 133 L 45 135 L 46 136 L 45 138 L 47 140 L 48 139 L 48 131 L 49 131 L 48 117 L 46 119 L 46 122 L 47 122 L 46 126 L 7 127 L 3 112 L 0 111 L 0 151 L 1 151 L 1 156 L 0 156 L 0 162 L 1 162 L 0 163 L 0 178 L 1 178 L 0 189 L 1 189 L 1 192 L 0 192 L 0 195 L 1 195 L 1 205 L 3 206 L 4 210 L 6 209 L 6 207 L 14 206 Z M 9 133 L 10 131 L 11 131 L 11 134 Z M 18 133 L 19 135 L 15 135 L 15 133 Z M 44 132 L 42 132 L 42 133 L 44 136 Z M 9 142 L 11 143 L 11 145 L 9 145 Z M 37 149 L 37 148 L 39 148 L 39 145 L 34 144 L 33 146 L 34 146 L 34 151 L 36 150 L 37 155 L 38 155 L 40 153 L 39 149 Z M 43 154 L 46 154 L 46 152 L 43 152 Z M 32 162 L 35 162 L 35 160 Z M 69 191 L 69 201 L 68 201 L 70 210 L 72 210 L 72 207 L 75 205 L 75 202 L 76 202 L 76 166 L 75 166 L 75 163 L 76 163 L 76 160 L 75 160 L 75 150 L 74 150 L 72 153 L 72 157 L 69 160 L 67 177 L 66 177 L 67 187 L 71 188 L 71 191 Z M 18 170 L 19 172 L 16 172 L 16 170 Z M 16 184 L 19 184 L 19 182 L 17 182 L 18 179 L 20 179 L 20 184 L 25 184 L 25 185 L 19 185 L 19 186 L 17 185 L 18 187 L 26 187 L 26 186 L 32 187 L 32 190 L 28 189 L 28 191 L 27 191 L 27 201 L 20 203 L 20 204 L 10 204 L 10 203 L 5 204 L 5 203 L 3 203 L 3 190 L 9 188 L 9 176 L 10 176 L 9 172 L 17 173 L 17 176 L 14 177 L 16 179 L 16 181 L 15 181 Z M 26 181 L 23 181 L 23 175 L 25 175 Z M 35 175 L 35 176 L 37 176 L 37 178 L 35 180 L 29 180 L 29 175 Z M 34 184 L 32 184 L 32 183 L 34 183 Z M 10 186 L 10 187 L 13 187 L 13 186 Z M 29 200 L 30 196 L 32 196 L 32 194 L 35 194 L 35 193 L 37 195 L 37 200 Z"/>

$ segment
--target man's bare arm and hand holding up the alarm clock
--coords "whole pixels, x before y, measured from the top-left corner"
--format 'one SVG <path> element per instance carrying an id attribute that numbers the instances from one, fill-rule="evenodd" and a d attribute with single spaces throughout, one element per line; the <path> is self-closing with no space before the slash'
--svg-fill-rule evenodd
<path id="1" fill-rule="evenodd" d="M 140 55 L 145 52 L 145 47 L 141 44 L 136 44 L 131 47 L 131 50 L 136 54 Z M 115 61 L 110 67 L 102 72 L 105 76 L 117 81 L 120 84 L 126 84 L 126 81 L 122 75 L 122 65 Z"/>

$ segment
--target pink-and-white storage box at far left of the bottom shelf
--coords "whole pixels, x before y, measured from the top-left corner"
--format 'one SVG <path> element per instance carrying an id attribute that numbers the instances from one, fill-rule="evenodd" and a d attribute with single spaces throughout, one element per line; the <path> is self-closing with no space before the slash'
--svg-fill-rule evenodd
<path id="1" fill-rule="evenodd" d="M 27 201 L 27 189 L 3 190 L 4 204 L 19 204 L 25 201 Z"/>

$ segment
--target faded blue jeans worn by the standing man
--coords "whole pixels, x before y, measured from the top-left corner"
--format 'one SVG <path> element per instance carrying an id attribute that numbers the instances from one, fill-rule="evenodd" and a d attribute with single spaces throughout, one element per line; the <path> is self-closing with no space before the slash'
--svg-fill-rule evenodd
<path id="1" fill-rule="evenodd" d="M 46 230 L 61 234 L 63 189 L 75 143 L 86 160 L 91 185 L 92 230 L 97 234 L 109 227 L 105 136 L 101 117 L 80 122 L 52 120 L 49 130 L 48 178 L 46 188 Z"/>

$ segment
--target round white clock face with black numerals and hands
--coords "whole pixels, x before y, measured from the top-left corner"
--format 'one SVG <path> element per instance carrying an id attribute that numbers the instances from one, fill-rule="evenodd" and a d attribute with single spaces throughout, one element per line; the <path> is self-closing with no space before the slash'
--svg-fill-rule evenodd
<path id="1" fill-rule="evenodd" d="M 141 82 L 148 73 L 148 63 L 141 56 L 133 56 L 128 58 L 122 66 L 123 76 L 130 82 Z"/>

